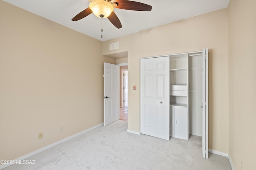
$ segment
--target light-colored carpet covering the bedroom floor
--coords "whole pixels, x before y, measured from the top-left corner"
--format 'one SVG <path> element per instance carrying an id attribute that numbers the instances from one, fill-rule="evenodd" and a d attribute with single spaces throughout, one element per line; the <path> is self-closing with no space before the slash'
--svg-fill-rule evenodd
<path id="1" fill-rule="evenodd" d="M 4 170 L 231 170 L 228 158 L 202 158 L 201 137 L 170 141 L 127 132 L 118 120 L 61 143 Z"/>

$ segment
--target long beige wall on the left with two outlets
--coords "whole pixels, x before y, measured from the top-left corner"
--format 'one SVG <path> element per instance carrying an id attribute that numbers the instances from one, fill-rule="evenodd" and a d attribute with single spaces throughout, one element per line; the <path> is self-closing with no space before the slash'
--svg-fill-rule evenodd
<path id="1" fill-rule="evenodd" d="M 0 160 L 104 121 L 101 41 L 3 1 L 0 37 Z"/>

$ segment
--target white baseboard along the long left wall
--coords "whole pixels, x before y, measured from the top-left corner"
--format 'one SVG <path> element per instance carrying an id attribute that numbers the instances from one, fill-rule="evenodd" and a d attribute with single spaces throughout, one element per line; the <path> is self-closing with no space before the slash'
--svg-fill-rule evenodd
<path id="1" fill-rule="evenodd" d="M 91 128 L 89 128 L 89 129 L 86 129 L 86 130 L 84 130 L 84 131 L 82 131 L 82 132 L 76 133 L 75 135 L 72 135 L 72 136 L 70 136 L 70 137 L 67 137 L 67 138 L 65 138 L 65 139 L 62 139 L 62 140 L 60 140 L 60 141 L 58 141 L 58 142 L 52 143 L 51 145 L 48 145 L 48 146 L 43 147 L 43 148 L 41 148 L 41 149 L 35 150 L 34 152 L 31 152 L 31 153 L 29 153 L 29 154 L 23 155 L 23 156 L 21 156 L 21 157 L 15 159 L 14 162 L 19 161 L 19 160 L 24 160 L 24 159 L 26 159 L 26 158 L 29 158 L 30 156 L 33 156 L 33 155 L 35 155 L 35 154 L 38 154 L 38 153 L 40 153 L 40 152 L 42 152 L 42 151 L 44 151 L 44 150 L 46 150 L 46 149 L 50 149 L 51 147 L 54 147 L 54 146 L 56 146 L 56 145 L 59 145 L 60 143 L 66 142 L 66 141 L 68 141 L 68 140 L 70 140 L 70 139 L 72 139 L 72 138 L 74 138 L 74 137 L 77 137 L 77 136 L 79 136 L 79 135 L 82 135 L 83 133 L 86 133 L 86 132 L 88 132 L 88 131 L 91 131 L 92 129 L 95 129 L 95 128 L 100 127 L 100 126 L 103 126 L 103 125 L 104 125 L 104 123 L 100 123 L 99 125 L 96 125 L 96 126 L 94 126 L 94 127 L 91 127 Z M 10 165 L 12 165 L 12 164 L 2 164 L 2 165 L 0 165 L 0 170 L 1 170 L 1 169 L 4 169 L 4 168 L 6 168 L 7 166 L 10 166 Z"/>

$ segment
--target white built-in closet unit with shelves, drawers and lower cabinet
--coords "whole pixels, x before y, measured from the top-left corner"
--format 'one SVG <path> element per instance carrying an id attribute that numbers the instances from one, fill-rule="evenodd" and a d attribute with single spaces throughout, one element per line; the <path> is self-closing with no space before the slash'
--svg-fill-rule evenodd
<path id="1" fill-rule="evenodd" d="M 188 54 L 170 56 L 170 136 L 189 138 Z"/>

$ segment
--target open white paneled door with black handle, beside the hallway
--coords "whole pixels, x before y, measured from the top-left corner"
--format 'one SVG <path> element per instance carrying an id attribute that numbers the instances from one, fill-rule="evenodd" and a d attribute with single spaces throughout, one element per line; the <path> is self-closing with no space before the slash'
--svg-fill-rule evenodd
<path id="1" fill-rule="evenodd" d="M 119 66 L 104 63 L 104 126 L 119 119 Z"/>

